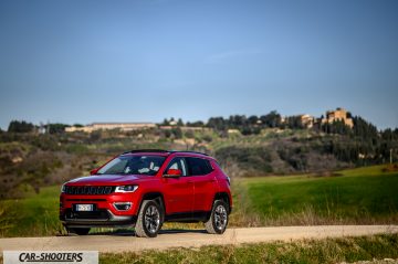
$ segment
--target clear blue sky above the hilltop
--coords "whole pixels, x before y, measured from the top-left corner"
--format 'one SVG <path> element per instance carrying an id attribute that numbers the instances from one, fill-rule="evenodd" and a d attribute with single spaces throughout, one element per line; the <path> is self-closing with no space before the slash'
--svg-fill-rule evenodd
<path id="1" fill-rule="evenodd" d="M 312 114 L 398 127 L 398 1 L 1 0 L 0 127 Z"/>

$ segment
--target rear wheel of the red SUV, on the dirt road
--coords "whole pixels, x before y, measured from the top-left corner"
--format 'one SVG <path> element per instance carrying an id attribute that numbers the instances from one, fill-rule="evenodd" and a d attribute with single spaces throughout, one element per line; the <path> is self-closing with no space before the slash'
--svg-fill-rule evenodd
<path id="1" fill-rule="evenodd" d="M 228 205 L 222 200 L 216 200 L 210 218 L 205 222 L 205 228 L 210 234 L 222 234 L 228 225 Z"/>

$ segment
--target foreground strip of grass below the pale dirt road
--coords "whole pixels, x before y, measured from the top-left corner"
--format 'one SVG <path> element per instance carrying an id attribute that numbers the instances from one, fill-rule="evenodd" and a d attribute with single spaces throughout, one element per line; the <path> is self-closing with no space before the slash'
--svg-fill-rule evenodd
<path id="1" fill-rule="evenodd" d="M 398 258 L 398 234 L 101 254 L 100 263 L 339 263 Z"/>

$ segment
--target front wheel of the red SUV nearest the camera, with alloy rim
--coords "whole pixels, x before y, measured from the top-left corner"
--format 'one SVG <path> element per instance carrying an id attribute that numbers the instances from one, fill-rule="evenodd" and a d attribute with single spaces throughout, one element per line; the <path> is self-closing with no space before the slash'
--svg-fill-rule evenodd
<path id="1" fill-rule="evenodd" d="M 161 207 L 154 200 L 144 200 L 138 213 L 135 233 L 139 237 L 156 237 L 161 229 Z"/>

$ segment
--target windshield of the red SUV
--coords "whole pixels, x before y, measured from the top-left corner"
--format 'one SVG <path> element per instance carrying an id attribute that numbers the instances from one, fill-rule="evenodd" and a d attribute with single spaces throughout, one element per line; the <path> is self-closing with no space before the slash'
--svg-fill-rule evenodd
<path id="1" fill-rule="evenodd" d="M 147 175 L 154 176 L 160 169 L 161 156 L 121 156 L 101 168 L 97 175 Z"/>

